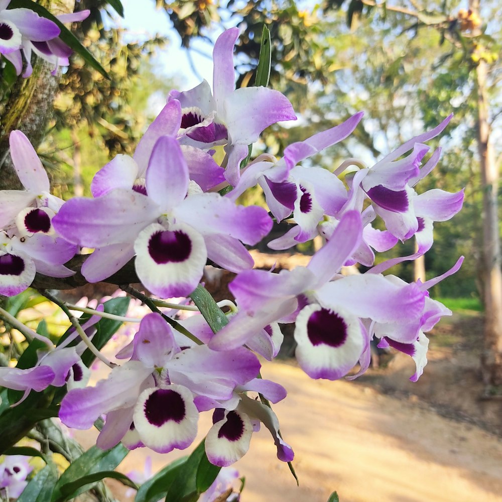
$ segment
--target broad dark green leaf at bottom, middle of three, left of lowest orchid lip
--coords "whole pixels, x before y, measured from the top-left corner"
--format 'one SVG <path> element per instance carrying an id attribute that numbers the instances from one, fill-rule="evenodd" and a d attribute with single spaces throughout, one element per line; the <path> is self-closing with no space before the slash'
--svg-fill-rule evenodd
<path id="1" fill-rule="evenodd" d="M 166 495 L 166 502 L 195 502 L 216 479 L 221 467 L 212 465 L 206 456 L 204 440 L 188 457 Z"/>

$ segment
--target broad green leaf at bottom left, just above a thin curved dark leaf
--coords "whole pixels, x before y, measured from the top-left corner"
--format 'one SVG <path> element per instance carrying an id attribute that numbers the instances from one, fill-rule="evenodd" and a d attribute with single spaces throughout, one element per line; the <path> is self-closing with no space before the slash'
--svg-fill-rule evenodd
<path id="1" fill-rule="evenodd" d="M 63 472 L 54 489 L 52 502 L 64 502 L 64 500 L 73 498 L 88 490 L 90 486 L 88 482 L 84 482 L 79 485 L 80 488 L 69 492 L 69 489 L 75 485 L 72 483 L 78 484 L 82 478 L 88 479 L 87 476 L 90 474 L 114 469 L 128 453 L 129 450 L 122 443 L 109 450 L 101 450 L 97 446 L 91 446 Z M 70 488 L 68 488 L 68 485 L 70 485 Z M 71 496 L 68 497 L 68 494 Z"/>

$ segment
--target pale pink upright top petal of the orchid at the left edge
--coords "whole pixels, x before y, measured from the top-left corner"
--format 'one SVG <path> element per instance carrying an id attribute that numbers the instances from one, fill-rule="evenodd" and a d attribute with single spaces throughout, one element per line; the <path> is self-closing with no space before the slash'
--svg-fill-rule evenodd
<path id="1" fill-rule="evenodd" d="M 21 131 L 13 131 L 9 136 L 9 145 L 14 167 L 23 186 L 37 195 L 48 192 L 49 178 L 30 140 Z"/>

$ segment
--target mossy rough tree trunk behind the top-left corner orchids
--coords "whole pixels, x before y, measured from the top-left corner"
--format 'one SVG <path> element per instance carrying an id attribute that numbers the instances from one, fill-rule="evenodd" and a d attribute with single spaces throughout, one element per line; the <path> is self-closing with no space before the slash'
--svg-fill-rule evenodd
<path id="1" fill-rule="evenodd" d="M 40 0 L 38 3 L 56 15 L 71 13 L 75 6 L 74 0 Z M 16 129 L 22 131 L 35 149 L 42 142 L 61 77 L 61 72 L 51 75 L 52 70 L 52 65 L 37 58 L 32 76 L 19 76 L 13 86 L 0 117 L 0 190 L 24 189 L 9 155 L 9 135 Z"/>

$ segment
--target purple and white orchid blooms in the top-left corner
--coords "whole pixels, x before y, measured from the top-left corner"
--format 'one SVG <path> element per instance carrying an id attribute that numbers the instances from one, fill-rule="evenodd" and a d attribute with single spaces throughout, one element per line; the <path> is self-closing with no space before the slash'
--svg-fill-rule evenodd
<path id="1" fill-rule="evenodd" d="M 10 61 L 18 75 L 23 72 L 23 56 L 26 67 L 23 77 L 32 74 L 32 53 L 54 66 L 68 66 L 72 50 L 61 41 L 61 30 L 50 19 L 43 18 L 30 9 L 8 9 L 11 0 L 0 0 L 0 54 Z M 62 23 L 83 21 L 90 11 L 56 16 Z"/>

